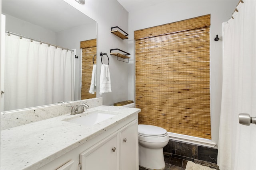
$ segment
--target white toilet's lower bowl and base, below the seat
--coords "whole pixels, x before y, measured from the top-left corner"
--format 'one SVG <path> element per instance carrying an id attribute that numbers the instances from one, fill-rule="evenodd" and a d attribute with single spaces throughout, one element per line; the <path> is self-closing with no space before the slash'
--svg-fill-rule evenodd
<path id="1" fill-rule="evenodd" d="M 151 149 L 139 145 L 139 166 L 148 170 L 163 170 L 165 168 L 163 148 Z"/>

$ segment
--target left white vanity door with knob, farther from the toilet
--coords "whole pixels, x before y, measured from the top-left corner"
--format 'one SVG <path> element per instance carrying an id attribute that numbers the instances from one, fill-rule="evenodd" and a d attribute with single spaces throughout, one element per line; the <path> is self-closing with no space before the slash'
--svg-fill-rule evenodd
<path id="1" fill-rule="evenodd" d="M 118 132 L 80 154 L 82 170 L 118 170 Z"/>

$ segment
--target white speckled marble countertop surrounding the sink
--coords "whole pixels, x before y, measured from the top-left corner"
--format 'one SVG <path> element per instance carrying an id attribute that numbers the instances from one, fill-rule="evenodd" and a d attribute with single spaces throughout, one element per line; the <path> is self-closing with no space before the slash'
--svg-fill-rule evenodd
<path id="1" fill-rule="evenodd" d="M 116 116 L 92 126 L 63 121 L 95 110 L 112 111 L 112 114 Z M 40 168 L 100 135 L 104 132 L 102 129 L 108 130 L 139 112 L 140 109 L 135 108 L 98 106 L 77 115 L 69 113 L 2 130 L 0 169 L 34 170 Z"/>

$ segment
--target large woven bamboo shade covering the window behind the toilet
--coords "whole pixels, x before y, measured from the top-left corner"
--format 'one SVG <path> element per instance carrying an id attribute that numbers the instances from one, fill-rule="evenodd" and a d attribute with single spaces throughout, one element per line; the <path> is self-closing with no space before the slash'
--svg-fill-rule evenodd
<path id="1" fill-rule="evenodd" d="M 134 32 L 139 123 L 211 139 L 210 15 Z"/>

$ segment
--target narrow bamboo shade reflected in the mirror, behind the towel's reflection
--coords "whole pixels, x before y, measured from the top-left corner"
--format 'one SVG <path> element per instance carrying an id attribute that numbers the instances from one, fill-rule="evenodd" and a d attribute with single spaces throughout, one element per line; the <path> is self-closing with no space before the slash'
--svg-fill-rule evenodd
<path id="1" fill-rule="evenodd" d="M 80 48 L 82 48 L 82 87 L 81 100 L 96 98 L 96 92 L 90 94 L 90 85 L 92 80 L 92 58 L 96 55 L 96 39 L 81 41 Z M 96 64 L 96 56 L 94 57 L 94 64 Z"/>

